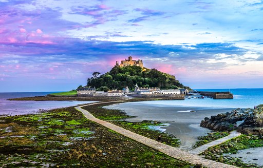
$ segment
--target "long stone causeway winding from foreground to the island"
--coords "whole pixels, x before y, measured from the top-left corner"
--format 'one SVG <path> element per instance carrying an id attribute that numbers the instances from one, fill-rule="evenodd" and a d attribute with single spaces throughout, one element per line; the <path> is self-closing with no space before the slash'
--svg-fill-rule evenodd
<path id="1" fill-rule="evenodd" d="M 118 101 L 109 101 L 109 102 L 118 102 Z M 133 140 L 138 141 L 142 144 L 145 144 L 145 145 L 147 145 L 153 149 L 156 149 L 156 150 L 158 150 L 158 151 L 160 151 L 160 152 L 162 152 L 168 156 L 171 156 L 173 158 L 176 158 L 176 159 L 179 159 L 182 161 L 186 161 L 186 162 L 190 162 L 193 164 L 202 164 L 205 167 L 211 167 L 211 168 L 236 167 L 236 166 L 232 166 L 232 165 L 228 165 L 228 164 L 224 164 L 224 163 L 219 163 L 219 162 L 216 162 L 213 160 L 204 159 L 201 156 L 194 155 L 194 154 L 191 154 L 189 152 L 182 151 L 182 150 L 179 150 L 177 148 L 174 148 L 170 145 L 160 143 L 156 140 L 146 138 L 142 135 L 139 135 L 139 134 L 136 134 L 134 132 L 125 130 L 121 127 L 118 127 L 117 125 L 114 125 L 112 123 L 100 120 L 100 119 L 94 117 L 88 111 L 82 109 L 82 107 L 84 107 L 84 106 L 91 106 L 93 104 L 101 104 L 101 103 L 106 103 L 106 102 L 98 102 L 98 103 L 92 103 L 92 104 L 87 104 L 87 105 L 83 105 L 83 106 L 78 106 L 78 107 L 76 107 L 76 109 L 81 111 L 87 119 L 94 121 L 94 122 L 97 122 L 97 123 L 103 125 L 104 127 L 112 130 L 112 131 L 115 131 L 115 132 L 122 134 L 122 135 L 124 135 L 130 139 L 133 139 Z"/>

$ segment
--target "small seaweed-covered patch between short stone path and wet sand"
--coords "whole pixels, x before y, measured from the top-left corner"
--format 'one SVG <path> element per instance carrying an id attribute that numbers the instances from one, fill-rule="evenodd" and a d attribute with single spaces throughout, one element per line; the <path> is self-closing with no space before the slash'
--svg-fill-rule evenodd
<path id="1" fill-rule="evenodd" d="M 214 140 L 220 139 L 222 137 L 228 136 L 229 133 L 228 132 L 213 132 L 213 133 L 209 133 L 206 136 L 202 136 L 202 137 L 198 137 L 197 139 L 199 141 L 197 141 L 194 145 L 194 148 L 197 148 L 203 144 L 212 142 Z"/>

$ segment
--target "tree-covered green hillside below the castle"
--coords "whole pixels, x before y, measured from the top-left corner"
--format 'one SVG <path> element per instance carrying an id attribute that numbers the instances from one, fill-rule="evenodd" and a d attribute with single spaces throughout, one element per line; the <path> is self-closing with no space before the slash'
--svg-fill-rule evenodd
<path id="1" fill-rule="evenodd" d="M 123 68 L 115 66 L 109 72 L 100 76 L 99 74 L 99 72 L 94 72 L 93 76 L 87 79 L 87 86 L 96 87 L 97 91 L 121 90 L 126 86 L 133 90 L 136 83 L 139 87 L 159 87 L 161 89 L 189 88 L 184 87 L 173 75 L 156 69 L 142 69 L 137 66 Z"/>

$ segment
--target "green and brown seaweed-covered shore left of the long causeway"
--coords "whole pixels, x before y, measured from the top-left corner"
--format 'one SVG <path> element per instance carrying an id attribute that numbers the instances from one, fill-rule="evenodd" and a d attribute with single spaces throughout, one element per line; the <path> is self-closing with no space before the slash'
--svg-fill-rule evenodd
<path id="1" fill-rule="evenodd" d="M 1 167 L 194 167 L 109 131 L 73 107 L 0 120 Z"/>

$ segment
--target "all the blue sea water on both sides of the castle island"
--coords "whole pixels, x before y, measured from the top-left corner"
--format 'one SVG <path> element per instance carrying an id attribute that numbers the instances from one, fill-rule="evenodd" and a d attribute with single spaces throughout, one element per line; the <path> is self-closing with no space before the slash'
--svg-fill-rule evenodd
<path id="1" fill-rule="evenodd" d="M 261 89 L 198 89 L 198 91 L 224 92 L 230 91 L 234 99 L 185 99 L 134 102 L 139 104 L 155 104 L 155 106 L 208 107 L 208 108 L 253 108 L 263 104 L 263 88 Z M 45 96 L 58 92 L 11 92 L 0 93 L 0 115 L 32 114 L 41 110 L 50 110 L 90 103 L 90 101 L 10 101 L 9 98 Z"/>

